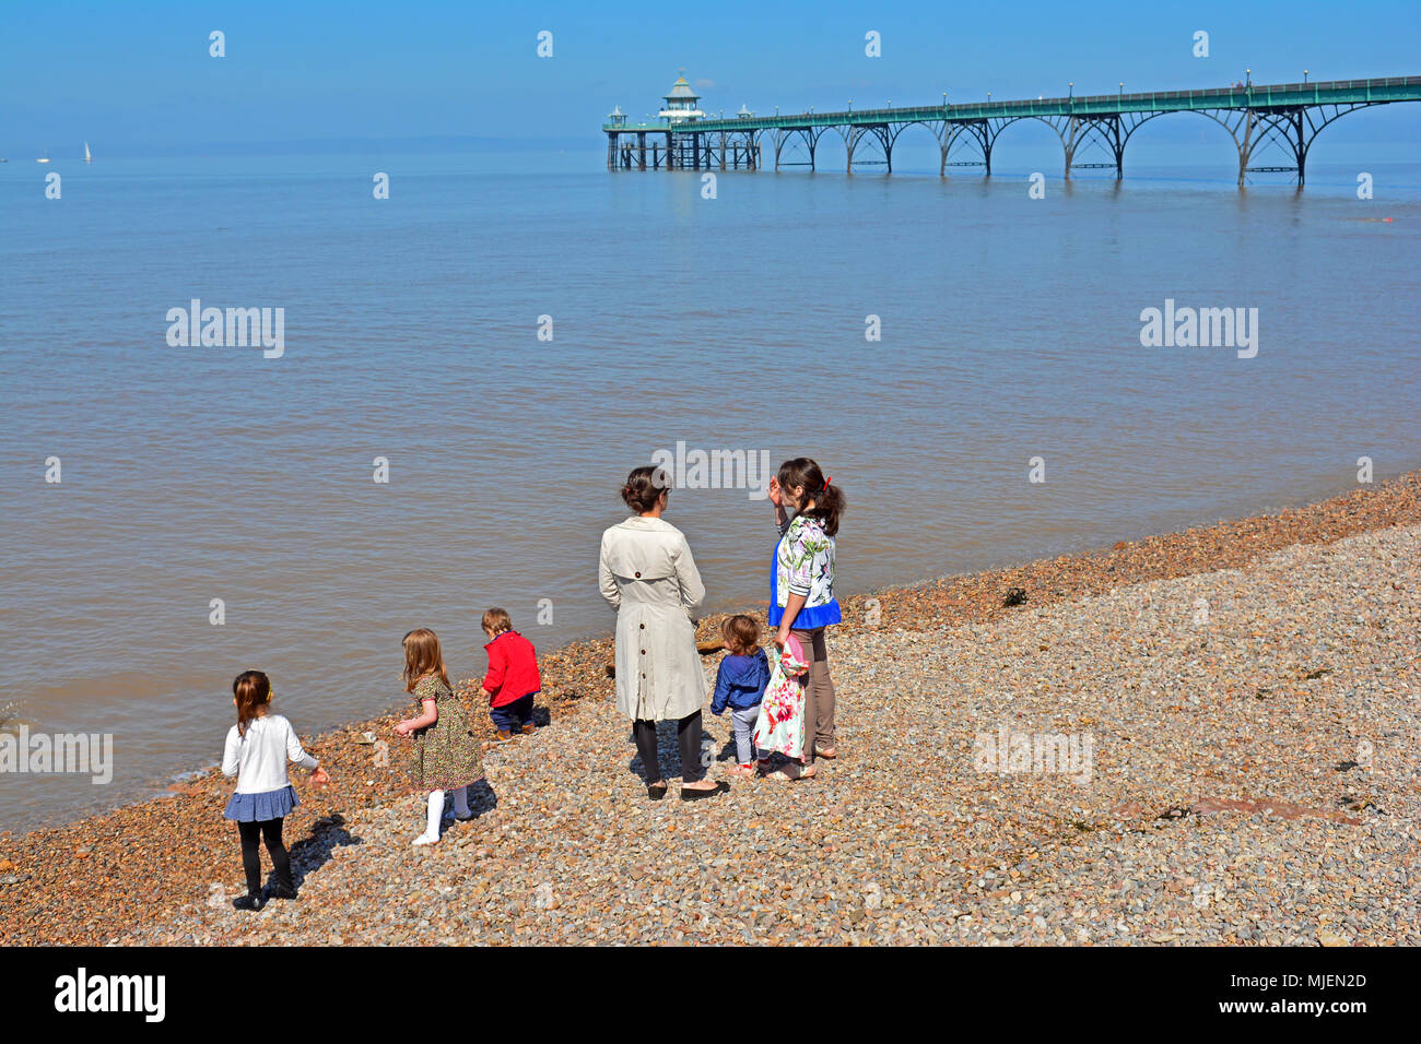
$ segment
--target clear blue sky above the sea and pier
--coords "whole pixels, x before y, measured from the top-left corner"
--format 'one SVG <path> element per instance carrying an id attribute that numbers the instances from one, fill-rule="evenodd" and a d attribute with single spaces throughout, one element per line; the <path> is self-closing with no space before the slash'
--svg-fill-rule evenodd
<path id="1" fill-rule="evenodd" d="M 0 155 L 595 134 L 678 67 L 769 112 L 1421 74 L 1421 3 L 65 3 L 0 0 Z M 210 30 L 226 58 L 207 55 Z M 553 33 L 553 58 L 536 36 Z M 864 55 L 864 34 L 882 57 Z M 1211 57 L 1191 54 L 1195 30 Z M 1401 108 L 1401 107 L 1398 107 Z M 1421 107 L 1415 107 L 1421 108 Z M 1397 126 L 1414 134 L 1407 114 Z M 60 148 L 63 146 L 63 149 Z"/>

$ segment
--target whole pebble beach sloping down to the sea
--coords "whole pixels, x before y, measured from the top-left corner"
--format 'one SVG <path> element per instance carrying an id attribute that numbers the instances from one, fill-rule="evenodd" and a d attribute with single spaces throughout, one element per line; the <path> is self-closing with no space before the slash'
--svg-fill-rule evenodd
<path id="1" fill-rule="evenodd" d="M 304 737 L 334 783 L 293 773 L 298 901 L 232 909 L 242 866 L 222 820 L 230 783 L 213 771 L 161 800 L 0 834 L 0 935 L 1421 945 L 1421 472 L 1134 535 L 843 599 L 830 635 L 840 757 L 814 780 L 733 780 L 695 804 L 672 785 L 648 801 L 611 642 L 584 642 L 540 658 L 540 727 L 486 750 L 477 817 L 441 844 L 409 845 L 422 798 L 391 713 Z M 702 639 L 718 632 L 719 618 L 702 621 Z M 716 660 L 703 658 L 708 679 Z M 709 697 L 705 720 L 718 777 L 733 764 L 730 722 Z M 661 740 L 674 768 L 674 726 Z"/>

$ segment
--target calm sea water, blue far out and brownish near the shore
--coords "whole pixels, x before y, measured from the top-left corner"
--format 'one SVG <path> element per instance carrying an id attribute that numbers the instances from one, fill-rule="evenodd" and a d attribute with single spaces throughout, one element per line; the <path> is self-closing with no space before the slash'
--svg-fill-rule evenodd
<path id="1" fill-rule="evenodd" d="M 1421 463 L 1418 163 L 1373 165 L 1370 202 L 1356 165 L 1299 196 L 1226 162 L 1044 166 L 1040 200 L 1030 166 L 726 173 L 708 200 L 554 159 L 55 162 L 58 202 L 47 168 L 0 168 L 0 706 L 117 757 L 107 787 L 0 776 L 0 828 L 213 763 L 246 668 L 311 734 L 401 699 L 412 626 L 458 676 L 489 605 L 543 649 L 607 632 L 598 534 L 678 440 L 817 457 L 848 592 Z M 193 297 L 284 308 L 284 357 L 169 347 Z M 1142 348 L 1165 298 L 1258 308 L 1258 357 Z M 681 490 L 668 517 L 712 608 L 766 597 L 764 501 Z"/>

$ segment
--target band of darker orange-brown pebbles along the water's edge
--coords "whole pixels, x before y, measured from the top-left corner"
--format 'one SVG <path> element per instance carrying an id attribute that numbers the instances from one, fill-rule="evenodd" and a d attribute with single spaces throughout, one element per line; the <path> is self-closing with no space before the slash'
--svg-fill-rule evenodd
<path id="1" fill-rule="evenodd" d="M 1020 611 L 1003 605 L 1010 588 L 1025 591 L 1026 607 L 1042 607 L 1124 584 L 1238 568 L 1292 544 L 1331 543 L 1417 521 L 1421 472 L 1277 514 L 848 598 L 843 629 L 914 631 L 990 621 Z M 701 638 L 715 635 L 719 621 L 702 621 Z M 610 659 L 610 639 L 578 642 L 543 656 L 540 726 L 567 727 L 580 703 L 611 699 Z M 460 689 L 468 693 L 469 683 Z M 351 723 L 308 743 L 334 783 L 315 791 L 304 774 L 296 778 L 303 805 L 287 824 L 293 849 L 328 851 L 341 844 L 345 815 L 408 793 L 405 749 L 391 733 L 395 720 L 389 713 Z M 492 739 L 487 716 L 477 713 L 475 720 L 480 734 Z M 365 732 L 388 741 L 388 766 L 377 764 L 377 749 L 361 741 Z M 230 785 L 220 773 L 209 771 L 175 784 L 168 798 L 54 830 L 0 834 L 0 881 L 14 882 L 0 885 L 0 933 L 10 945 L 104 943 L 131 936 L 175 908 L 202 902 L 210 882 L 239 876 L 236 832 L 222 820 Z"/>

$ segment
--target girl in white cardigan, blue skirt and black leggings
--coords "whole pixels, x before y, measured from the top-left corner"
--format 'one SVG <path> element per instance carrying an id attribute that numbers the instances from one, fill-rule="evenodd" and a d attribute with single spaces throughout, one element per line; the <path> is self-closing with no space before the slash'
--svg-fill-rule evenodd
<path id="1" fill-rule="evenodd" d="M 310 768 L 311 783 L 324 787 L 331 781 L 320 763 L 301 749 L 291 723 L 271 710 L 271 680 L 260 670 L 246 670 L 232 682 L 232 702 L 237 723 L 227 732 L 222 754 L 222 774 L 237 777 L 237 793 L 227 801 L 223 817 L 236 820 L 242 835 L 242 868 L 247 875 L 247 893 L 233 899 L 239 910 L 260 910 L 267 899 L 294 899 L 291 861 L 281 844 L 281 821 L 301 804 L 286 774 L 290 758 Z M 276 885 L 261 892 L 261 852 L 266 838 Z"/>

